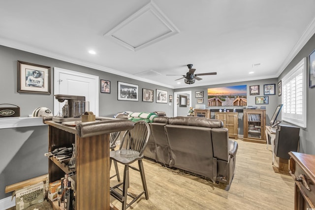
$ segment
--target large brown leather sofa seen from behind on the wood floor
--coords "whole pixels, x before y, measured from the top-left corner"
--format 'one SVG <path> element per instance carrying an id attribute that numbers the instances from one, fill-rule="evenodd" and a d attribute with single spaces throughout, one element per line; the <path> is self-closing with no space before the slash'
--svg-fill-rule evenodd
<path id="1" fill-rule="evenodd" d="M 227 185 L 233 179 L 238 144 L 221 120 L 157 117 L 144 156 Z"/>

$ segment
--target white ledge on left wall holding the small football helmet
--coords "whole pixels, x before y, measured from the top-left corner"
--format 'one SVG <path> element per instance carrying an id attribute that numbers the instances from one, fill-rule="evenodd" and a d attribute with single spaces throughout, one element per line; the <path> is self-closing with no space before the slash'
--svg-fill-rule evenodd
<path id="1" fill-rule="evenodd" d="M 0 129 L 46 125 L 43 118 L 0 118 Z"/>

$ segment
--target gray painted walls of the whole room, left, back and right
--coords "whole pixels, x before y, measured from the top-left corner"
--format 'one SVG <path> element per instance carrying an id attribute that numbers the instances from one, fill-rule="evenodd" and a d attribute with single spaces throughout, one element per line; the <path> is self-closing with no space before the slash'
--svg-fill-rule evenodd
<path id="1" fill-rule="evenodd" d="M 99 92 L 99 116 L 112 117 L 117 112 L 122 111 L 165 111 L 167 116 L 173 116 L 173 106 L 169 103 L 153 103 L 142 102 L 142 88 L 154 90 L 167 90 L 168 94 L 174 96 L 174 91 L 191 90 L 192 98 L 190 98 L 190 105 L 195 107 L 197 99 L 195 98 L 195 91 L 204 91 L 204 102 L 207 101 L 207 89 L 234 85 L 247 85 L 248 87 L 248 105 L 255 106 L 255 96 L 249 95 L 249 86 L 259 85 L 260 95 L 263 95 L 264 84 L 277 84 L 278 81 L 303 57 L 308 55 L 315 49 L 315 37 L 313 36 L 301 52 L 292 60 L 284 73 L 280 75 L 279 79 L 266 79 L 239 83 L 229 83 L 221 85 L 209 85 L 196 88 L 185 88 L 172 90 L 161 86 L 129 79 L 126 77 L 109 74 L 84 66 L 75 65 L 72 63 L 55 60 L 24 51 L 0 46 L 0 72 L 3 75 L 0 78 L 1 84 L 1 101 L 0 103 L 11 103 L 21 107 L 21 117 L 27 117 L 32 114 L 32 111 L 37 107 L 53 108 L 53 92 L 51 95 L 30 94 L 17 92 L 17 60 L 37 63 L 45 66 L 60 67 L 63 69 L 84 72 L 99 76 L 99 79 L 111 81 L 111 93 L 105 94 Z M 53 72 L 52 72 L 53 73 Z M 52 74 L 53 75 L 53 74 Z M 248 75 L 244 75 L 248 76 Z M 139 85 L 140 101 L 118 101 L 117 100 L 117 81 L 127 82 Z M 53 77 L 52 77 L 53 82 Z M 53 86 L 52 86 L 53 91 Z M 300 152 L 315 154 L 315 130 L 312 130 L 315 124 L 315 110 L 313 104 L 315 103 L 315 89 L 308 89 L 307 101 L 307 129 L 300 132 Z M 156 95 L 155 95 L 156 97 Z M 173 97 L 173 104 L 176 103 L 176 98 Z M 269 104 L 266 105 L 266 113 L 268 122 L 276 106 L 281 103 L 281 98 L 276 95 L 269 96 Z M 259 106 L 258 106 L 259 107 Z M 187 110 L 188 112 L 188 110 Z M 184 113 L 183 113 L 184 115 Z M 185 111 L 185 115 L 187 115 Z M 239 114 L 239 134 L 243 134 L 243 115 Z M 44 157 L 44 153 L 48 150 L 48 128 L 46 125 L 25 128 L 7 128 L 0 129 L 0 199 L 11 196 L 11 193 L 4 193 L 6 185 L 16 183 L 22 180 L 27 180 L 32 177 L 40 176 L 48 172 L 48 160 Z"/>

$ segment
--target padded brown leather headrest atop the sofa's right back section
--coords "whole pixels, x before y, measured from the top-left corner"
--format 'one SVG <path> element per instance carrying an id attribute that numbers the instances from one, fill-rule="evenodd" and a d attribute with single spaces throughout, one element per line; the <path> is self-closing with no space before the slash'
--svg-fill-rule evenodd
<path id="1" fill-rule="evenodd" d="M 175 117 L 168 120 L 168 124 L 174 125 L 188 125 L 188 126 L 198 126 L 198 127 L 210 127 L 219 128 L 223 127 L 223 122 L 221 120 L 214 120 L 201 117 Z"/>

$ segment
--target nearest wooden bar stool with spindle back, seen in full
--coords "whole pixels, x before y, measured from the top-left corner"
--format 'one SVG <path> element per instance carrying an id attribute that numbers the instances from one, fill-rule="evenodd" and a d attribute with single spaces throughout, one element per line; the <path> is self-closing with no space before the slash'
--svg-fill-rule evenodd
<path id="1" fill-rule="evenodd" d="M 131 204 L 137 201 L 142 194 L 145 194 L 146 200 L 149 199 L 147 183 L 144 175 L 142 159 L 143 152 L 147 146 L 151 130 L 147 122 L 139 120 L 135 122 L 132 130 L 126 131 L 120 144 L 120 149 L 110 151 L 110 159 L 124 164 L 124 181 L 110 188 L 110 194 L 122 203 L 122 210 L 126 210 Z M 138 161 L 139 168 L 130 166 L 131 163 Z M 128 193 L 129 187 L 129 168 L 140 172 L 143 191 L 139 195 Z M 123 188 L 120 186 L 123 185 Z M 132 201 L 127 204 L 127 196 Z"/>

